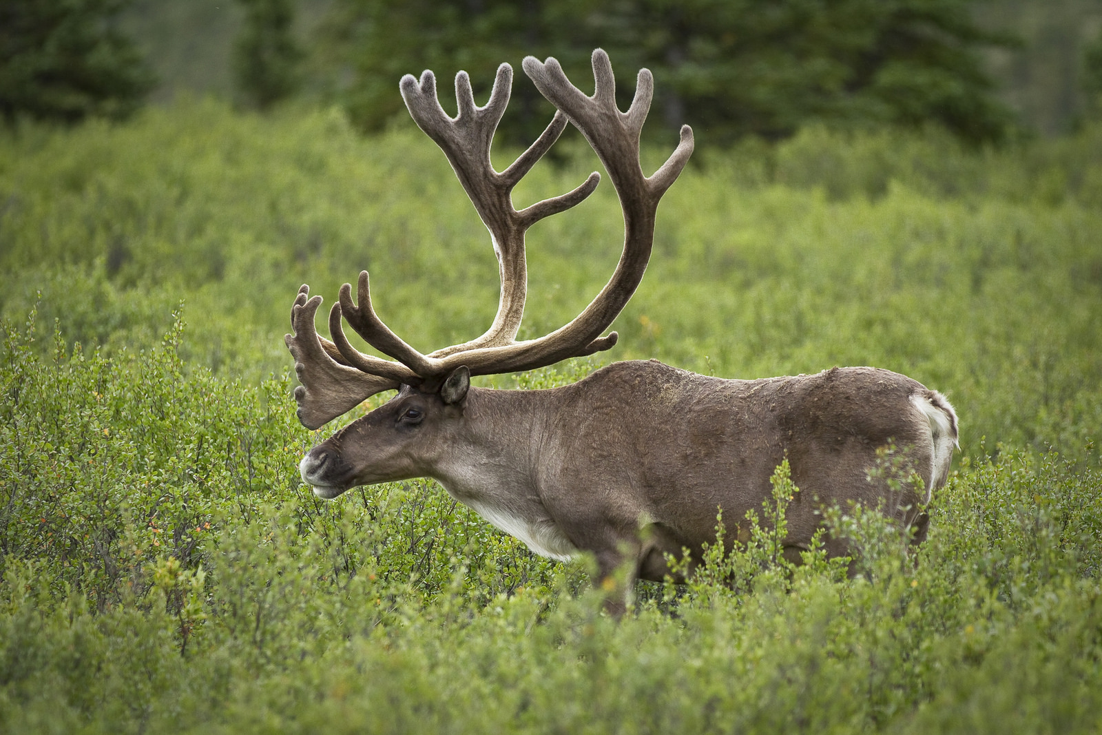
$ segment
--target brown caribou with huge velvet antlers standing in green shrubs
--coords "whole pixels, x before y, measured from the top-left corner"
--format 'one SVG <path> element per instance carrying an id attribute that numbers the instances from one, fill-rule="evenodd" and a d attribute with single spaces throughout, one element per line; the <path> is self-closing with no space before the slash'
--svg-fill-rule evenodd
<path id="1" fill-rule="evenodd" d="M 906 376 L 872 367 L 818 375 L 736 380 L 707 377 L 657 360 L 614 363 L 575 383 L 545 390 L 494 390 L 471 377 L 531 370 L 592 355 L 616 344 L 603 336 L 631 298 L 650 257 L 658 203 L 693 150 L 689 126 L 651 176 L 639 163 L 639 134 L 653 80 L 638 74 L 626 112 L 615 100 L 608 56 L 593 53 L 592 96 L 575 87 L 554 58 L 529 56 L 523 69 L 557 112 L 544 132 L 505 171 L 490 163 L 490 143 L 509 100 L 512 69 L 501 64 L 484 107 L 466 73 L 455 77 L 456 117 L 441 107 L 435 78 L 402 77 L 400 89 L 417 125 L 444 151 L 489 230 L 501 288 L 497 314 L 482 336 L 423 355 L 403 342 L 371 306 L 367 272 L 356 300 L 345 284 L 329 311 L 332 341 L 314 325 L 321 296 L 303 285 L 285 337 L 302 383 L 300 421 L 310 429 L 343 415 L 368 397 L 397 390 L 387 403 L 312 448 L 302 479 L 322 498 L 350 487 L 431 477 L 485 520 L 537 554 L 565 560 L 588 552 L 602 580 L 626 565 L 629 580 L 661 581 L 668 559 L 690 552 L 677 581 L 716 538 L 716 511 L 743 518 L 769 497 L 769 478 L 786 457 L 800 488 L 788 508 L 789 552 L 807 549 L 824 505 L 883 502 L 892 496 L 914 540 L 926 534 L 922 511 L 942 486 L 957 444 L 957 415 L 946 398 Z M 517 341 L 525 309 L 525 233 L 582 202 L 594 172 L 577 188 L 517 210 L 512 188 L 551 148 L 568 122 L 605 167 L 624 216 L 624 249 L 612 278 L 571 322 L 542 337 Z M 393 359 L 356 349 L 346 321 L 367 344 Z M 906 447 L 908 472 L 921 483 L 890 491 L 871 472 L 877 450 Z M 828 539 L 828 553 L 847 552 Z M 624 602 L 611 601 L 613 612 Z"/>

